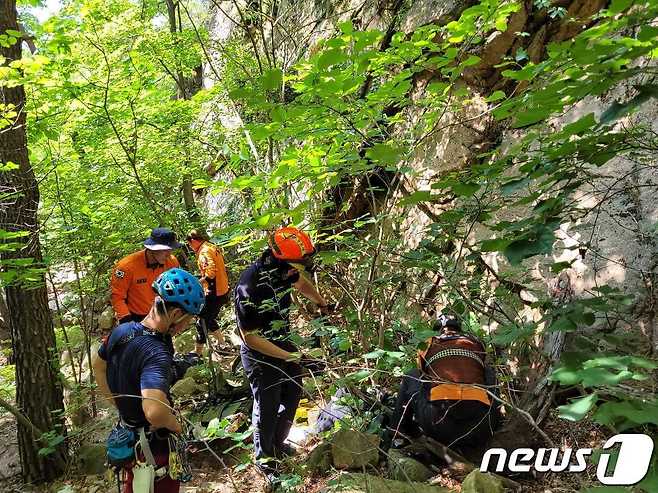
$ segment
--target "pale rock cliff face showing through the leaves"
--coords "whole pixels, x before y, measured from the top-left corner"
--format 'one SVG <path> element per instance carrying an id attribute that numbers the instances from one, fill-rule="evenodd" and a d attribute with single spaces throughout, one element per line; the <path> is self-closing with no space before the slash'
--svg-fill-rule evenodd
<path id="1" fill-rule="evenodd" d="M 496 65 L 505 56 L 515 55 L 521 49 L 531 61 L 542 60 L 548 43 L 573 37 L 592 22 L 592 14 L 607 4 L 606 0 L 563 0 L 558 3 L 568 16 L 552 18 L 545 9 L 537 10 L 532 2 L 522 3 L 510 17 L 508 30 L 490 36 L 477 48 L 474 53 L 481 61 L 463 78 L 471 95 L 470 103 L 458 112 L 446 115 L 443 130 L 430 135 L 417 148 L 410 161 L 415 176 L 412 182 L 407 182 L 407 188 L 411 191 L 427 190 L 442 173 L 468 167 L 482 151 L 505 146 L 520 137 L 520 132 L 508 130 L 504 124 L 482 116 L 487 108 L 484 97 L 492 91 L 524 89 L 523 83 L 516 88 L 509 87 L 510 82 L 501 78 L 503 69 Z M 267 15 L 277 19 L 273 30 L 259 30 L 254 26 L 249 31 L 240 27 L 245 24 L 246 5 L 236 1 L 216 2 L 210 34 L 220 47 L 231 40 L 251 43 L 261 50 L 265 45 L 266 49 L 261 53 L 263 60 L 275 62 L 285 72 L 296 61 L 313 53 L 318 41 L 336 33 L 336 26 L 345 20 L 351 20 L 357 29 L 410 33 L 422 25 L 453 20 L 470 5 L 470 0 L 283 0 L 275 7 L 269 7 L 272 11 Z M 525 34 L 520 36 L 519 33 Z M 206 87 L 221 83 L 221 68 L 225 63 L 221 50 L 214 52 L 212 58 L 215 67 L 212 70 L 206 67 Z M 423 98 L 430 80 L 431 74 L 416 77 L 411 97 Z M 590 112 L 599 115 L 613 101 L 627 100 L 633 95 L 630 84 L 618 86 L 605 97 L 582 101 L 551 123 L 561 127 Z M 643 122 L 654 132 L 658 131 L 658 105 L 654 101 L 649 100 L 634 116 L 620 120 L 619 125 Z M 413 105 L 403 111 L 404 120 L 409 125 L 420 118 L 420 110 Z M 220 113 L 219 118 L 226 128 L 241 131 L 238 113 L 230 104 L 224 105 Z M 401 127 L 404 125 L 400 124 Z M 549 286 L 556 282 L 555 275 L 548 268 L 551 263 L 573 261 L 562 282 L 569 284 L 576 296 L 587 296 L 604 282 L 637 295 L 634 320 L 605 320 L 601 323 L 626 323 L 639 327 L 651 339 L 654 351 L 658 350 L 655 310 L 658 295 L 654 288 L 658 263 L 657 187 L 656 161 L 649 153 L 633 159 L 615 158 L 593 170 L 591 183 L 574 194 L 579 206 L 591 210 L 591 214 L 561 225 L 551 258 L 534 257 L 524 261 L 522 267 L 532 275 L 535 280 L 533 287 L 538 291 L 548 292 Z M 211 210 L 226 207 L 221 197 L 210 197 L 208 205 Z M 410 212 L 402 227 L 409 246 L 417 244 L 421 232 L 432 222 L 432 213 L 439 210 L 417 208 Z M 586 245 L 586 248 L 578 248 L 579 245 Z M 489 256 L 487 261 L 496 271 L 511 269 L 498 255 Z M 532 317 L 532 314 L 528 316 Z"/>

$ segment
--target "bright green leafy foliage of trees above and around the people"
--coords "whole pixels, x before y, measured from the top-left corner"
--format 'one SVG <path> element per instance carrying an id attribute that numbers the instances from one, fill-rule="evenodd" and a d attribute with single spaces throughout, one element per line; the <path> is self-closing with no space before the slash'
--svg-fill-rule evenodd
<path id="1" fill-rule="evenodd" d="M 26 18 L 39 51 L 0 72 L 2 83 L 28 89 L 47 260 L 74 264 L 81 300 L 104 298 L 112 262 L 151 227 L 192 226 L 182 199 L 191 181 L 216 204 L 199 222 L 216 226 L 235 273 L 265 245 L 263 231 L 294 223 L 313 232 L 319 279 L 340 313 L 308 325 L 340 363 L 336 386 L 397 379 L 432 334 L 427 314 L 441 307 L 494 345 L 506 382 L 524 381 L 546 359 L 541 341 L 566 334 L 569 351 L 550 379 L 580 397 L 558 408 L 564 419 L 589 416 L 620 430 L 658 424 L 656 363 L 617 331 L 640 296 L 598 283 L 556 302 L 531 274 L 569 271 L 578 259 L 564 252 L 594 255 L 594 233 L 565 237 L 610 200 L 584 207 L 578 199 L 609 183 L 606 164 L 651 166 L 655 132 L 632 117 L 658 94 L 655 0 L 613 1 L 591 27 L 550 43 L 543 59 L 523 45 L 492 67 L 487 40 L 508 31 L 526 8 L 520 2 L 482 0 L 412 33 L 342 22 L 295 63 L 277 63 L 253 38 L 218 48 L 202 5 L 181 5 L 187 18 L 171 32 L 162 2 L 69 2 L 42 25 Z M 568 21 L 551 2 L 532 8 Z M 201 64 L 214 85 L 177 98 Z M 482 67 L 497 74 L 495 85 L 469 83 Z M 622 86 L 630 95 L 620 99 Z M 579 112 L 601 96 L 613 101 L 603 112 Z M 0 108 L 1 126 L 15 117 Z M 487 145 L 419 164 L 432 143 L 474 124 Z M 500 132 L 488 142 L 492 128 L 508 130 L 504 145 Z M 10 248 L 15 238 L 0 240 Z M 14 267 L 3 266 L 0 281 L 11 281 Z M 651 285 L 653 273 L 642 275 Z M 81 306 L 79 317 L 88 311 Z M 516 374 L 503 368 L 508 360 Z M 366 428 L 370 418 L 356 421 Z M 236 439 L 225 420 L 212 425 L 209 433 Z"/>

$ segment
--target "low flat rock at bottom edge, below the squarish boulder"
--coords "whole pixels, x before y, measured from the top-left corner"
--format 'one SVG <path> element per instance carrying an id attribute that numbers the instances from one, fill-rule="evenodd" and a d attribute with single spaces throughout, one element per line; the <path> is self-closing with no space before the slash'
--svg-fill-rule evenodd
<path id="1" fill-rule="evenodd" d="M 384 479 L 370 474 L 343 474 L 331 481 L 323 493 L 454 493 L 454 490 L 427 483 Z"/>

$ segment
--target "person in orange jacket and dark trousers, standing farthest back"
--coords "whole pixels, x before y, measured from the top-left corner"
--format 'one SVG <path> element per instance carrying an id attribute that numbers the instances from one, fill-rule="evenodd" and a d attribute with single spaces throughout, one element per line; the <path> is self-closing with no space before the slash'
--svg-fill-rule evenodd
<path id="1" fill-rule="evenodd" d="M 224 256 L 219 247 L 211 243 L 208 235 L 193 229 L 187 235 L 187 244 L 196 253 L 197 265 L 201 274 L 201 284 L 206 293 L 206 302 L 197 320 L 196 353 L 201 355 L 206 345 L 208 334 L 219 342 L 224 336 L 219 330 L 217 315 L 229 301 L 228 276 L 224 265 Z"/>

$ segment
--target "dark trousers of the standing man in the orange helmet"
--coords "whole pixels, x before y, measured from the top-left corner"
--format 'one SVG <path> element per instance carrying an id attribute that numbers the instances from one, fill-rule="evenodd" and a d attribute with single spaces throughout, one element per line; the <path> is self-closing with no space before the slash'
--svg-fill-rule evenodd
<path id="1" fill-rule="evenodd" d="M 285 349 L 297 350 L 294 346 Z M 302 367 L 265 356 L 246 344 L 240 356 L 254 396 L 251 422 L 256 459 L 281 458 L 302 396 Z"/>

